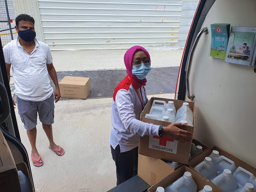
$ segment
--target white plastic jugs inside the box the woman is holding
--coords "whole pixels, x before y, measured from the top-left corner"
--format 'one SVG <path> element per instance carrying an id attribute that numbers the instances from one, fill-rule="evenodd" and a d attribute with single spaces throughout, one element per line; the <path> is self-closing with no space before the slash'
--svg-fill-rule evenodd
<path id="1" fill-rule="evenodd" d="M 184 102 L 177 110 L 173 101 L 154 100 L 150 112 L 145 115 L 146 118 L 166 121 L 166 122 L 187 122 L 187 125 L 193 126 L 193 112 L 189 103 Z"/>

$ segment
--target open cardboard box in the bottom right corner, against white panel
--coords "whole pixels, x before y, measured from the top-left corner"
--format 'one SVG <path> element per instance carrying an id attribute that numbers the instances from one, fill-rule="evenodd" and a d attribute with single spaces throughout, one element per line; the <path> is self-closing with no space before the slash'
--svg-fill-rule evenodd
<path id="1" fill-rule="evenodd" d="M 202 162 L 204 160 L 205 157 L 208 157 L 213 150 L 217 150 L 219 152 L 219 155 L 223 155 L 225 157 L 227 157 L 228 159 L 232 160 L 235 164 L 236 167 L 243 167 L 244 169 L 246 169 L 247 171 L 250 171 L 252 174 L 256 175 L 256 168 L 247 164 L 246 162 L 238 159 L 237 157 L 233 156 L 232 154 L 216 147 L 210 147 L 209 149 L 203 151 L 202 153 L 200 153 L 198 156 L 196 156 L 195 158 L 191 159 L 188 163 L 189 167 L 194 169 L 194 167 L 196 165 L 198 165 L 200 162 Z"/>

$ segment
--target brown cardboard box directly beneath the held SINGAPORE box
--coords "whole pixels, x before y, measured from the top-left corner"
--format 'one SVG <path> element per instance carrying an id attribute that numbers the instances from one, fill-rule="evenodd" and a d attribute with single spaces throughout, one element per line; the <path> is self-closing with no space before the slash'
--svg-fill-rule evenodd
<path id="1" fill-rule="evenodd" d="M 192 142 L 196 145 L 201 145 L 203 147 L 203 151 L 209 148 L 207 145 L 200 143 L 196 139 L 193 139 Z M 191 158 L 191 160 L 195 157 Z M 138 176 L 152 186 L 181 166 L 183 166 L 183 164 L 180 164 L 174 168 L 164 160 L 139 154 Z"/>

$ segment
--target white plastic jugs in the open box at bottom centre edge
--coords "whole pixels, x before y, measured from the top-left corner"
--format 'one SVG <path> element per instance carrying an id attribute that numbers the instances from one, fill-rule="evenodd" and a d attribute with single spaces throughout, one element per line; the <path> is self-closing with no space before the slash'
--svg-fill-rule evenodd
<path id="1" fill-rule="evenodd" d="M 156 192 L 197 192 L 197 184 L 190 172 L 186 171 L 182 177 L 171 183 L 165 189 L 157 187 Z M 200 192 L 212 192 L 211 186 L 205 185 Z"/>

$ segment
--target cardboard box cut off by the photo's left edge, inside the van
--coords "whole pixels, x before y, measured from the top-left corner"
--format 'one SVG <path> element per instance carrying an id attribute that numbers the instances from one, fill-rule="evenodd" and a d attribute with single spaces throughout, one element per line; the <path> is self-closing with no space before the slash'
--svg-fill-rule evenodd
<path id="1" fill-rule="evenodd" d="M 0 189 L 21 192 L 17 168 L 2 131 L 0 131 Z"/>

